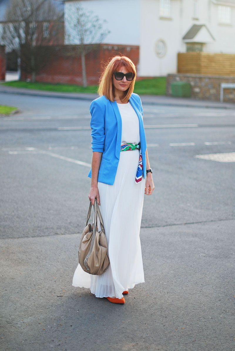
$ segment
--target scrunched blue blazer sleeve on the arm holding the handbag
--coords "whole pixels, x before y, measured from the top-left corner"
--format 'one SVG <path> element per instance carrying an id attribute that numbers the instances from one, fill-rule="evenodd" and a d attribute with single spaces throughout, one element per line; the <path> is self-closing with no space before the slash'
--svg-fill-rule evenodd
<path id="1" fill-rule="evenodd" d="M 105 140 L 105 107 L 101 106 L 97 100 L 90 105 L 91 113 L 91 148 L 92 151 L 103 152 Z"/>

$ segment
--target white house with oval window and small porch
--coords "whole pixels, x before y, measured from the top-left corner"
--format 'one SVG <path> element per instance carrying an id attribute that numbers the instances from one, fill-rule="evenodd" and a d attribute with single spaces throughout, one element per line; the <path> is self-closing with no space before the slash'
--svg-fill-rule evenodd
<path id="1" fill-rule="evenodd" d="M 235 0 L 65 0 L 65 31 L 75 5 L 93 11 L 106 44 L 139 45 L 138 75 L 177 72 L 177 53 L 235 53 Z M 71 36 L 72 37 L 72 36 Z M 68 37 L 67 37 L 68 38 Z M 66 44 L 68 44 L 68 39 Z M 76 40 L 72 44 L 78 44 Z"/>

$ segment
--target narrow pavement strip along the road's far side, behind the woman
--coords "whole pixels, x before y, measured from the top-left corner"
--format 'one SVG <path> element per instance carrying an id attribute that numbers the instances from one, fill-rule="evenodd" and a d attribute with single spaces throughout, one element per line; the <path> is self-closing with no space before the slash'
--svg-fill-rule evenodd
<path id="1" fill-rule="evenodd" d="M 60 93 L 44 90 L 33 90 L 27 88 L 15 88 L 0 84 L 0 93 L 30 95 L 60 99 L 77 99 L 77 100 L 94 100 L 98 97 L 97 94 L 87 93 Z M 228 108 L 234 109 L 235 103 L 196 100 L 191 98 L 176 98 L 165 95 L 140 95 L 143 104 L 149 105 L 171 105 L 184 107 L 202 107 L 202 108 Z"/>

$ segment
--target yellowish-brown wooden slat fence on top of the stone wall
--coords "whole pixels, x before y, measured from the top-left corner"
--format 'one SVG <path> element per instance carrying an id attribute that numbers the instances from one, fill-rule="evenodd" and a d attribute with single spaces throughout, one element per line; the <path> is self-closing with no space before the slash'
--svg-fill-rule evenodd
<path id="1" fill-rule="evenodd" d="M 177 72 L 235 77 L 235 55 L 207 52 L 178 53 Z"/>

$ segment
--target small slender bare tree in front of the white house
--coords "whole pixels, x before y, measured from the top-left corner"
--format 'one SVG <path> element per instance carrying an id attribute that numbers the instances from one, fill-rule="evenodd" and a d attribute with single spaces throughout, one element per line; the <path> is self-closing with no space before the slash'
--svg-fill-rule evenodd
<path id="1" fill-rule="evenodd" d="M 78 55 L 81 56 L 81 69 L 83 86 L 87 86 L 85 55 L 96 49 L 94 44 L 99 45 L 109 30 L 103 29 L 106 20 L 100 20 L 93 11 L 85 12 L 79 4 L 73 4 L 67 19 L 66 41 L 68 44 L 79 44 L 76 46 Z M 92 45 L 93 44 L 93 45 Z"/>

